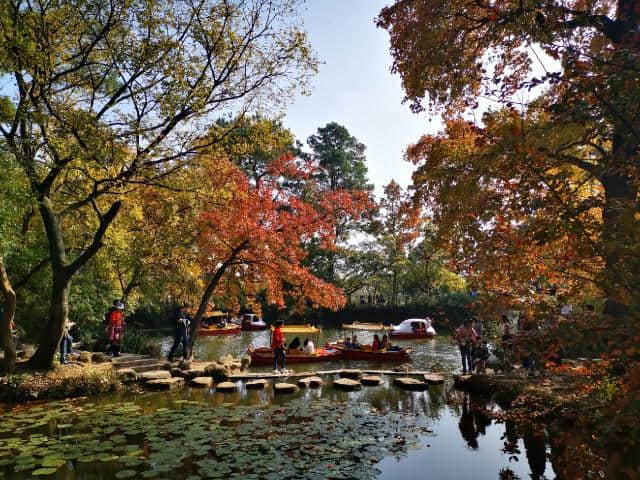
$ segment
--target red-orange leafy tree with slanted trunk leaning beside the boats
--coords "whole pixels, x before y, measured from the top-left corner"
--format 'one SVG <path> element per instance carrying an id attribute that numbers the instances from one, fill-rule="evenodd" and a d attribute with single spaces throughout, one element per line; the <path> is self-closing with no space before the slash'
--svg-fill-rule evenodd
<path id="1" fill-rule="evenodd" d="M 344 304 L 339 288 L 303 266 L 305 245 L 315 239 L 324 248 L 332 248 L 339 215 L 356 217 L 362 204 L 344 190 L 315 189 L 313 201 L 291 194 L 280 179 L 299 178 L 310 189 L 314 171 L 292 156 L 270 162 L 267 169 L 268 175 L 258 185 L 230 162 L 219 162 L 210 171 L 216 188 L 228 193 L 199 219 L 197 245 L 206 287 L 193 321 L 196 332 L 211 296 L 220 287 L 230 289 L 231 294 L 243 292 L 256 308 L 255 298 L 262 291 L 267 303 L 280 309 L 287 299 L 298 310 L 307 306 L 335 310 Z M 225 278 L 230 281 L 223 283 Z"/>

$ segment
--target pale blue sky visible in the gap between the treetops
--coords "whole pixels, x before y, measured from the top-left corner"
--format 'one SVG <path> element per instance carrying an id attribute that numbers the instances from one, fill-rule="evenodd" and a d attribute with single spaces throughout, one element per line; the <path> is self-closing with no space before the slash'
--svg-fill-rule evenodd
<path id="1" fill-rule="evenodd" d="M 406 187 L 413 165 L 404 151 L 440 129 L 428 114 L 402 104 L 400 77 L 392 75 L 389 36 L 374 19 L 392 0 L 307 0 L 304 27 L 324 62 L 308 97 L 298 95 L 283 123 L 306 142 L 329 122 L 344 125 L 367 146 L 369 180 L 380 195 L 392 179 Z"/>

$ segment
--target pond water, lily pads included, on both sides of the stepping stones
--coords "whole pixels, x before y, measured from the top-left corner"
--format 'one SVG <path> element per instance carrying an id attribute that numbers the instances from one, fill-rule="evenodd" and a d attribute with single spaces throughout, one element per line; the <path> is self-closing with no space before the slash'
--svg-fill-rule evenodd
<path id="1" fill-rule="evenodd" d="M 243 333 L 198 348 L 215 358 L 267 342 Z M 450 338 L 415 345 L 415 367 L 458 367 Z M 185 388 L 5 409 L 0 478 L 555 478 L 545 432 L 491 421 L 486 411 L 498 407 L 486 399 L 388 382 L 347 393 L 330 380 L 289 395 L 239 382 L 231 394 Z"/>

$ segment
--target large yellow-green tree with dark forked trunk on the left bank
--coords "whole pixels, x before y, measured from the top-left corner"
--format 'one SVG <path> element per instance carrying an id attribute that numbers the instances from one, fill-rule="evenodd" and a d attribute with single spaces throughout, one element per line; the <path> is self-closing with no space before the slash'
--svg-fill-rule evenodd
<path id="1" fill-rule="evenodd" d="M 316 62 L 297 4 L 0 2 L 2 148 L 28 179 L 52 272 L 34 367 L 51 366 L 71 280 L 100 249 L 122 194 L 170 182 L 217 112 L 304 88 Z"/>

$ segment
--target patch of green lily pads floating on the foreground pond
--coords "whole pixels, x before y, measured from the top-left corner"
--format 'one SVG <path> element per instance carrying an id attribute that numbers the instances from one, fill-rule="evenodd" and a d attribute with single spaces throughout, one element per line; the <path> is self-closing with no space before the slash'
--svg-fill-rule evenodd
<path id="1" fill-rule="evenodd" d="M 371 478 L 386 455 L 404 455 L 424 417 L 366 404 L 292 400 L 266 408 L 186 400 L 149 409 L 49 403 L 0 423 L 0 476 L 108 470 L 115 478 Z"/>

